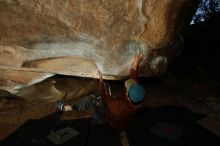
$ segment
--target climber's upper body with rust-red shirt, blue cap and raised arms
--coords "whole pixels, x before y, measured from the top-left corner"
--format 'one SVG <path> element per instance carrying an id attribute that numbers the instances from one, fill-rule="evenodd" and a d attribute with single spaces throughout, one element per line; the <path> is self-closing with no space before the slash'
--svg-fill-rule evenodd
<path id="1" fill-rule="evenodd" d="M 129 125 L 138 105 L 144 100 L 144 87 L 138 83 L 138 69 L 143 58 L 142 53 L 137 53 L 133 59 L 129 72 L 129 79 L 125 81 L 126 95 L 112 98 L 106 94 L 102 75 L 100 74 L 99 91 L 106 105 L 105 118 L 115 129 L 123 131 Z"/>

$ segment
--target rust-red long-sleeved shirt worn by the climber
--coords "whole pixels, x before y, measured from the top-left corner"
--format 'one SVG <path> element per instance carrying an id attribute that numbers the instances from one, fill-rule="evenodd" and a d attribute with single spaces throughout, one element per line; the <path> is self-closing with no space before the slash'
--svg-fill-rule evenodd
<path id="1" fill-rule="evenodd" d="M 137 71 L 131 69 L 130 78 L 138 82 Z M 112 98 L 111 96 L 107 95 L 103 82 L 100 82 L 99 84 L 99 92 L 106 104 L 106 120 L 113 128 L 119 131 L 124 130 L 130 123 L 136 111 L 135 106 L 126 95 L 117 98 Z"/>

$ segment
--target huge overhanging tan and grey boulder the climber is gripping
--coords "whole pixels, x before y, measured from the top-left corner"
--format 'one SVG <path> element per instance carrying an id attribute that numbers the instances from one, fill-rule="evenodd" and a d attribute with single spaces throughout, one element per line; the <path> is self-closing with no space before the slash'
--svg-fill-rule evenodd
<path id="1" fill-rule="evenodd" d="M 144 54 L 141 75 L 164 73 L 181 48 L 182 28 L 196 4 L 0 0 L 0 71 L 5 73 L 0 88 L 11 92 L 54 74 L 97 78 L 97 67 L 104 78 L 121 79 L 137 51 Z"/>

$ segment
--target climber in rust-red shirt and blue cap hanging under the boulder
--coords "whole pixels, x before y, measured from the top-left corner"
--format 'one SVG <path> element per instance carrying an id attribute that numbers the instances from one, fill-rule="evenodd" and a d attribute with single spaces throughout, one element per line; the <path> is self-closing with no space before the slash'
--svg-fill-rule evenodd
<path id="1" fill-rule="evenodd" d="M 144 87 L 138 83 L 138 69 L 142 60 L 142 53 L 137 53 L 133 59 L 129 71 L 129 79 L 125 81 L 126 94 L 114 98 L 111 96 L 110 86 L 105 84 L 101 72 L 99 72 L 99 90 L 83 98 L 79 103 L 64 105 L 63 111 L 90 110 L 92 118 L 99 124 L 109 123 L 113 128 L 121 131 L 130 123 L 137 111 L 136 107 L 144 99 Z"/>

